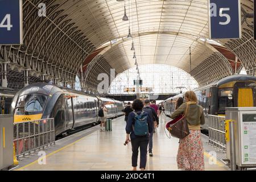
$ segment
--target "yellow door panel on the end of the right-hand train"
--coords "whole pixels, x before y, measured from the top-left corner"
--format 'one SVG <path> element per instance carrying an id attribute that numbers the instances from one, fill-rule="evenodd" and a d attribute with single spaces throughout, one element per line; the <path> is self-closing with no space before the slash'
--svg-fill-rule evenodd
<path id="1" fill-rule="evenodd" d="M 238 89 L 238 107 L 253 107 L 253 89 L 252 88 L 239 88 Z"/>

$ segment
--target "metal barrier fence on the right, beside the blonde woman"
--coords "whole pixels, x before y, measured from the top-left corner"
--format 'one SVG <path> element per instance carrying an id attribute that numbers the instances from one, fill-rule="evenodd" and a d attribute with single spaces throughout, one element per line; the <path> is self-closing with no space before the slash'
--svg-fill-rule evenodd
<path id="1" fill-rule="evenodd" d="M 225 117 L 208 115 L 208 121 L 209 143 L 220 148 L 221 151 L 226 151 Z"/>

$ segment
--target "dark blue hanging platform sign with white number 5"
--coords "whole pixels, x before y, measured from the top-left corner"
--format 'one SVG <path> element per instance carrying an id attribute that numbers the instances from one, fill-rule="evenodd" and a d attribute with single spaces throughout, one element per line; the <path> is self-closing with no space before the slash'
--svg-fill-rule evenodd
<path id="1" fill-rule="evenodd" d="M 210 39 L 239 39 L 241 31 L 240 0 L 208 0 Z"/>

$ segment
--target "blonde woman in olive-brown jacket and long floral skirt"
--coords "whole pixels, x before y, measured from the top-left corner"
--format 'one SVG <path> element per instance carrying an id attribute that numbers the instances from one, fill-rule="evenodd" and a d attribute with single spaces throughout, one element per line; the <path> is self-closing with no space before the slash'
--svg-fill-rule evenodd
<path id="1" fill-rule="evenodd" d="M 183 103 L 172 115 L 174 119 L 179 114 L 185 114 L 190 134 L 180 140 L 177 152 L 177 166 L 186 171 L 204 171 L 204 148 L 201 141 L 200 125 L 204 125 L 203 107 L 197 104 L 195 92 L 188 91 Z"/>

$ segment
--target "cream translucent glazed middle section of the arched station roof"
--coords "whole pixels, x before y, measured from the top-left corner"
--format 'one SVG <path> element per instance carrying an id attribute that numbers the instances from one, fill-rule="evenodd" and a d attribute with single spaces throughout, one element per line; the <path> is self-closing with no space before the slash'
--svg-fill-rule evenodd
<path id="1" fill-rule="evenodd" d="M 126 37 L 130 27 L 133 39 L 121 41 L 102 54 L 118 73 L 133 67 L 135 63 L 131 42 L 134 42 L 139 65 L 168 64 L 187 72 L 190 72 L 189 47 L 192 51 L 192 69 L 213 53 L 205 44 L 197 41 L 208 37 L 207 0 L 86 2 L 92 19 L 97 21 L 92 30 L 88 30 L 88 27 L 86 31 L 97 28 L 104 32 L 101 41 L 97 35 L 90 39 L 96 47 L 106 43 L 106 39 L 110 41 Z M 127 21 L 122 20 L 125 8 L 129 17 Z"/>

